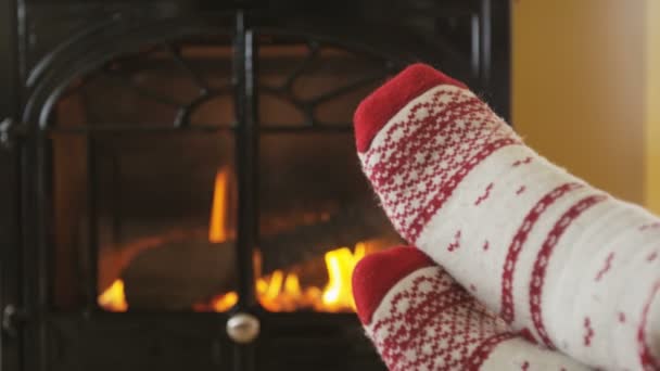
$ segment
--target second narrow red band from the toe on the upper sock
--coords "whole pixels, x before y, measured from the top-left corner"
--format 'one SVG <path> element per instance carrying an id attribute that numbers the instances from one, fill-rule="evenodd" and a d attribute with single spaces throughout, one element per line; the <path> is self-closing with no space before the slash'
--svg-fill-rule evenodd
<path id="1" fill-rule="evenodd" d="M 536 333 L 550 349 L 553 349 L 555 345 L 545 329 L 545 323 L 543 322 L 543 305 L 541 303 L 543 298 L 546 268 L 555 246 L 567 228 L 586 209 L 605 200 L 607 200 L 607 196 L 604 194 L 591 195 L 578 201 L 571 208 L 563 213 L 546 236 L 546 240 L 536 256 L 536 260 L 534 261 L 534 269 L 532 270 L 532 277 L 530 279 L 530 312 L 532 314 L 532 322 L 534 323 Z"/>

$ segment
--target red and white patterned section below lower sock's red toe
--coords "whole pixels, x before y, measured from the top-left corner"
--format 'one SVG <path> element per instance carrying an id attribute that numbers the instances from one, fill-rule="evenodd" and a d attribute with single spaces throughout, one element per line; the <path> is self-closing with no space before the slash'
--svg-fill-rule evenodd
<path id="1" fill-rule="evenodd" d="M 437 267 L 411 273 L 391 292 L 366 330 L 392 371 L 466 370 L 510 337 L 504 321 Z"/>

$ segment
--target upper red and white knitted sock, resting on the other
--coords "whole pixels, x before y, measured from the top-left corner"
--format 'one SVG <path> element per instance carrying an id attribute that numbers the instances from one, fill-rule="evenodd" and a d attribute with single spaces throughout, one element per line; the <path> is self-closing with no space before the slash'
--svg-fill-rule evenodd
<path id="1" fill-rule="evenodd" d="M 398 232 L 513 329 L 594 367 L 660 370 L 660 219 L 550 164 L 426 65 L 365 99 L 355 131 Z"/>

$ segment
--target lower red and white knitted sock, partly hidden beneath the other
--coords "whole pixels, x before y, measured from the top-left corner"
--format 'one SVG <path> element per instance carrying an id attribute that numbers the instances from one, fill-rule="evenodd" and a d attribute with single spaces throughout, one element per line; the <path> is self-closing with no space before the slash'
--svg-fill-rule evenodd
<path id="1" fill-rule="evenodd" d="M 364 258 L 353 273 L 359 318 L 390 370 L 586 370 L 507 324 L 412 247 Z"/>

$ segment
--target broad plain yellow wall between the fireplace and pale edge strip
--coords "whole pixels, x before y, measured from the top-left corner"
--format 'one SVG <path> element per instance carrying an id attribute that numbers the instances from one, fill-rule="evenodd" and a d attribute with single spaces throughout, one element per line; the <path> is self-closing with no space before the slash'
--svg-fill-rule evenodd
<path id="1" fill-rule="evenodd" d="M 511 2 L 515 127 L 550 161 L 637 203 L 645 200 L 647 1 L 658 8 L 658 0 Z"/>

